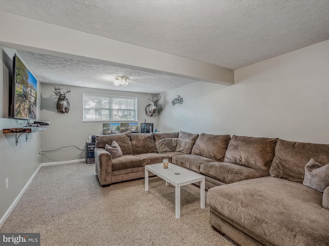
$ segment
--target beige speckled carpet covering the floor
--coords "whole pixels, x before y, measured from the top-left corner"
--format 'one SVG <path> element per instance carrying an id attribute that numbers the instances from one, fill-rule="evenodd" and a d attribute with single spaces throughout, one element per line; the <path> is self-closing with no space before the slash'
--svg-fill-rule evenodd
<path id="1" fill-rule="evenodd" d="M 41 168 L 1 233 L 41 233 L 41 245 L 237 245 L 209 224 L 199 188 L 175 188 L 159 177 L 101 188 L 95 165 L 83 162 Z"/>

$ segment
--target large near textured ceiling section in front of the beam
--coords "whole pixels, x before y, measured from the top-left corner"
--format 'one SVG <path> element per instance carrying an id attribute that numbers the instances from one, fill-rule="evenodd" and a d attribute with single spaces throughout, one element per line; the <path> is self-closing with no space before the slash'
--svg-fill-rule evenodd
<path id="1" fill-rule="evenodd" d="M 329 39 L 329 0 L 0 0 L 0 10 L 229 69 Z"/>

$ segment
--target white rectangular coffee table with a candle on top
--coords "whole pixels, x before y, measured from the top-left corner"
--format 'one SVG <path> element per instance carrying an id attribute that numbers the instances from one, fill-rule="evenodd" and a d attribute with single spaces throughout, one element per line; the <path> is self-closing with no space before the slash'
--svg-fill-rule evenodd
<path id="1" fill-rule="evenodd" d="M 167 169 L 163 168 L 162 162 L 145 166 L 145 191 L 149 190 L 149 171 L 166 180 L 166 186 L 171 183 L 175 186 L 175 211 L 176 218 L 180 218 L 180 187 L 190 183 L 200 182 L 200 207 L 206 206 L 205 200 L 205 176 L 191 170 L 169 163 Z M 180 173 L 176 175 L 175 173 Z"/>

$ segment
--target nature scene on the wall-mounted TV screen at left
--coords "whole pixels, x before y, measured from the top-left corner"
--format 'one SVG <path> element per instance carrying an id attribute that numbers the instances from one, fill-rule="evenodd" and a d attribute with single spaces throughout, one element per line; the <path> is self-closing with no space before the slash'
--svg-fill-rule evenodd
<path id="1" fill-rule="evenodd" d="M 36 79 L 16 55 L 14 117 L 36 119 Z"/>

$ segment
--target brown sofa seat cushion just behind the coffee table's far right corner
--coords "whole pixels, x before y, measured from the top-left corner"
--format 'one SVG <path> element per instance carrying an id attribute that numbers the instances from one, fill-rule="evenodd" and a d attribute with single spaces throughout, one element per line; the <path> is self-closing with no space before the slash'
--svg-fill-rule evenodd
<path id="1" fill-rule="evenodd" d="M 172 163 L 183 168 L 190 169 L 194 172 L 200 173 L 200 165 L 205 162 L 212 162 L 213 159 L 200 155 L 175 155 L 172 157 Z"/>

